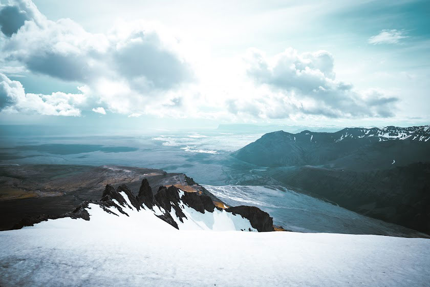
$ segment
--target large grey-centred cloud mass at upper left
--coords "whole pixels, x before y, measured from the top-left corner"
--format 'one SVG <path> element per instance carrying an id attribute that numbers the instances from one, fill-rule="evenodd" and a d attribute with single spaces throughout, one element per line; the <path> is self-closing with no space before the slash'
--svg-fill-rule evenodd
<path id="1" fill-rule="evenodd" d="M 31 1 L 16 1 L 5 9 L 25 15 L 26 21 L 13 26 L 10 17 L 3 19 L 5 27 L 15 28 L 1 45 L 0 63 L 81 83 L 91 91 L 88 96 L 99 97 L 114 112 L 142 112 L 149 101 L 163 101 L 194 80 L 178 40 L 153 25 L 119 22 L 96 34 L 71 19 L 47 19 Z"/>

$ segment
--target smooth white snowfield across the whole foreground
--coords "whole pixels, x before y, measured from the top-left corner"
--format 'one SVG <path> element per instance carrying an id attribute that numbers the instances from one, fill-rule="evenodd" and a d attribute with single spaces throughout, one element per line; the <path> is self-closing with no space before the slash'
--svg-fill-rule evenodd
<path id="1" fill-rule="evenodd" d="M 429 239 L 179 231 L 161 220 L 165 225 L 154 229 L 106 229 L 76 220 L 82 221 L 76 228 L 42 222 L 0 232 L 0 285 L 411 287 L 430 282 Z"/>

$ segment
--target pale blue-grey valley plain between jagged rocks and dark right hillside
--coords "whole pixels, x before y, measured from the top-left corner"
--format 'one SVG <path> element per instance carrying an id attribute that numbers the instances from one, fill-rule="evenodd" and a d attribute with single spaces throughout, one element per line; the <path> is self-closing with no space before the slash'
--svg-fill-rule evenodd
<path id="1" fill-rule="evenodd" d="M 230 206 L 259 207 L 273 223 L 296 232 L 422 236 L 396 224 L 369 218 L 303 193 L 273 186 L 205 186 Z"/>

